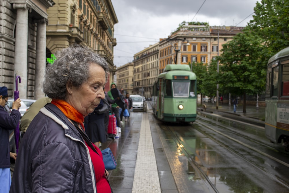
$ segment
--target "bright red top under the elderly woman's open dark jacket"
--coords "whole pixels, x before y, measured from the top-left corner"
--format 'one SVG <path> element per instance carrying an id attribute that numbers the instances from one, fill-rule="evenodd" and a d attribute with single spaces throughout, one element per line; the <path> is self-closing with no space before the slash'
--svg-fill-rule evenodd
<path id="1" fill-rule="evenodd" d="M 95 147 L 95 149 L 99 155 L 97 155 L 97 153 L 94 152 L 90 148 L 90 146 L 88 146 L 86 144 L 86 146 L 88 147 L 91 161 L 92 161 L 92 165 L 93 165 L 94 171 L 95 171 L 95 181 L 96 181 L 97 192 L 98 193 L 111 193 L 110 185 L 108 183 L 108 180 L 107 180 L 106 174 L 105 174 L 105 168 L 104 168 L 104 163 L 102 160 L 101 150 L 99 148 L 97 148 L 97 146 L 95 146 L 94 144 L 92 144 L 92 145 Z"/>

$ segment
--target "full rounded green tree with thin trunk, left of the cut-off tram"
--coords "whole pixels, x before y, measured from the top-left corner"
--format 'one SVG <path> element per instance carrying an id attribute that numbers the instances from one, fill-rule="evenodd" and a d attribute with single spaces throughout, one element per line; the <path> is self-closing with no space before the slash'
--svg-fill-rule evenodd
<path id="1" fill-rule="evenodd" d="M 220 73 L 218 81 L 223 92 L 243 95 L 243 113 L 246 113 L 246 95 L 264 91 L 266 61 L 260 54 L 264 50 L 263 39 L 245 29 L 224 44 L 218 57 Z"/>

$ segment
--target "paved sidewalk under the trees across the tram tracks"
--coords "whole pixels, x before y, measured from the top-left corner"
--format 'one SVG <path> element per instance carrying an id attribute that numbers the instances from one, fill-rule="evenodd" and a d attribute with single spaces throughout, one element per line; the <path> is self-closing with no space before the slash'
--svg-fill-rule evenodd
<path id="1" fill-rule="evenodd" d="M 259 106 L 257 109 L 256 106 L 252 105 L 246 105 L 246 113 L 243 113 L 243 105 L 238 105 L 236 107 L 236 113 L 233 111 L 233 104 L 218 104 L 218 109 L 216 109 L 216 103 L 211 103 L 211 102 L 203 102 L 202 104 L 206 105 L 206 111 L 213 111 L 215 112 L 223 112 L 223 113 L 229 113 L 241 117 L 249 117 L 249 118 L 254 118 L 258 120 L 264 120 L 265 118 L 265 107 L 264 106 Z M 203 107 L 201 106 L 201 103 L 197 103 L 198 109 L 202 109 Z"/>

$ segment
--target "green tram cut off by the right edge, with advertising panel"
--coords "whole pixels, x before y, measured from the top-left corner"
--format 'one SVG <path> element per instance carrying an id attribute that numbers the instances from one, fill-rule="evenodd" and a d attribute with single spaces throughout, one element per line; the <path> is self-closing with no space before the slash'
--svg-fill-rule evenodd
<path id="1" fill-rule="evenodd" d="M 289 151 L 289 47 L 268 60 L 265 100 L 266 137 Z"/>

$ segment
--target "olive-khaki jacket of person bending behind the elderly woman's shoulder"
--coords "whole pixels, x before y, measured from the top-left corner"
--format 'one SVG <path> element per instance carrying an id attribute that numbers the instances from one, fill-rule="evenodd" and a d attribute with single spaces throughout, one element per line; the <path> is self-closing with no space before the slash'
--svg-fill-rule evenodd
<path id="1" fill-rule="evenodd" d="M 23 117 L 21 117 L 21 125 L 20 130 L 22 131 L 23 135 L 26 132 L 29 124 L 34 119 L 34 117 L 39 113 L 40 109 L 44 107 L 47 103 L 51 102 L 51 98 L 42 97 L 36 100 L 27 111 L 24 113 Z"/>

